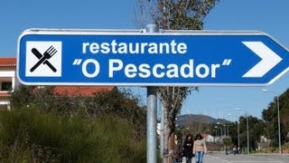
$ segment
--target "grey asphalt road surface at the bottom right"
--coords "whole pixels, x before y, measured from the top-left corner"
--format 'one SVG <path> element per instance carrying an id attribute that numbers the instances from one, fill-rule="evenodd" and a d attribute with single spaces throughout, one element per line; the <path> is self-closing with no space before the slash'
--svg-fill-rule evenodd
<path id="1" fill-rule="evenodd" d="M 204 163 L 288 163 L 289 155 L 225 155 L 220 153 L 207 153 Z"/>

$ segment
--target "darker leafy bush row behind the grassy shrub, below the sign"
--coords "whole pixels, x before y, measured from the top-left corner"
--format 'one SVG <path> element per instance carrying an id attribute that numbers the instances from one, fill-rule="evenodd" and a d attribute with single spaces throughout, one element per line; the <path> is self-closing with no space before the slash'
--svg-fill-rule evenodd
<path id="1" fill-rule="evenodd" d="M 145 110 L 138 106 L 138 99 L 131 92 L 118 91 L 115 88 L 112 91 L 81 97 L 58 95 L 53 93 L 53 88 L 42 87 L 40 89 L 21 85 L 12 92 L 11 105 L 14 109 L 37 106 L 42 110 L 53 111 L 57 115 L 69 117 L 74 113 L 86 117 L 116 115 L 125 119 L 133 127 L 135 137 L 144 138 Z"/>

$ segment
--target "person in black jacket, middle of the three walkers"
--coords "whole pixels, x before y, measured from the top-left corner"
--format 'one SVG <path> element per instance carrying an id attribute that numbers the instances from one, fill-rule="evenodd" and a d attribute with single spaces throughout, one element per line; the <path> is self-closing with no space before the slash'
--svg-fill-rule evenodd
<path id="1" fill-rule="evenodd" d="M 192 135 L 188 134 L 186 136 L 186 139 L 183 141 L 182 145 L 182 153 L 183 156 L 186 158 L 187 163 L 191 163 L 191 158 L 193 157 L 192 148 L 193 148 Z"/>

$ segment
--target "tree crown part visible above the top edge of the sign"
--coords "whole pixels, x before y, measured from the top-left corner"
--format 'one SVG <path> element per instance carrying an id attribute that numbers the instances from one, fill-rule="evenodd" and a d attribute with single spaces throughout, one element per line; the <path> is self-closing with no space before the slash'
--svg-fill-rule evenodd
<path id="1" fill-rule="evenodd" d="M 154 14 L 154 22 L 163 29 L 201 30 L 203 19 L 219 0 L 156 0 L 159 10 Z"/>

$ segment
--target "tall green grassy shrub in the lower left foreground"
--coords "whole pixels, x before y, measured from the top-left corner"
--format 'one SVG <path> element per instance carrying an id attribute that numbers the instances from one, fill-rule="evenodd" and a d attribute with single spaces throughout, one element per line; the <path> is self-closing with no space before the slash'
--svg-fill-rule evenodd
<path id="1" fill-rule="evenodd" d="M 126 120 L 55 115 L 36 107 L 0 114 L 0 162 L 145 162 L 145 139 Z"/>

